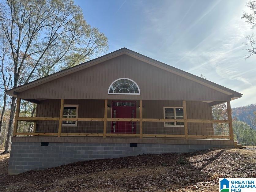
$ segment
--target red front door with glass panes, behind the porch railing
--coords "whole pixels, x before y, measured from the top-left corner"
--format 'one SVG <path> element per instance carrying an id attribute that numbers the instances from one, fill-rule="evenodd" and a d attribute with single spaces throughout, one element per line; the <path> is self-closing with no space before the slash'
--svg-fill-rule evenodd
<path id="1" fill-rule="evenodd" d="M 136 118 L 136 101 L 112 101 L 112 118 Z M 136 122 L 113 121 L 111 133 L 135 134 Z"/>

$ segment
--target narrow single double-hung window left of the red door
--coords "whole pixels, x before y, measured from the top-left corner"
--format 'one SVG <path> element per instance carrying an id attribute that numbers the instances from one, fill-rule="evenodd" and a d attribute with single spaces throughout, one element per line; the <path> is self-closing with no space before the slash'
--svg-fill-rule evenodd
<path id="1" fill-rule="evenodd" d="M 63 118 L 77 118 L 78 105 L 64 105 Z M 62 126 L 77 126 L 77 121 L 62 121 Z"/>

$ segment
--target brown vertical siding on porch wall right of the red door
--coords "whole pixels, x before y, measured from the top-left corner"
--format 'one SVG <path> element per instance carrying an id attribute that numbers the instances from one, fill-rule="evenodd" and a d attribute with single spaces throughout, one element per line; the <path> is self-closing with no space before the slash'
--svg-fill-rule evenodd
<path id="1" fill-rule="evenodd" d="M 143 100 L 143 118 L 164 119 L 163 107 L 182 107 L 182 101 L 156 101 Z M 187 101 L 188 119 L 212 119 L 212 109 L 205 102 Z M 165 127 L 163 122 L 144 122 L 144 134 L 184 134 L 184 127 Z M 209 135 L 213 134 L 212 123 L 188 123 L 188 134 Z"/>

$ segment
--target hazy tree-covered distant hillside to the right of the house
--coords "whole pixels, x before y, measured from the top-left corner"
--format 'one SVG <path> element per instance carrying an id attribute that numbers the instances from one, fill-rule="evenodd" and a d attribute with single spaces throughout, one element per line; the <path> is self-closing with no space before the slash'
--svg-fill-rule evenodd
<path id="1" fill-rule="evenodd" d="M 255 114 L 256 104 L 250 104 L 244 107 L 236 107 L 232 109 L 232 118 L 238 121 L 246 122 L 254 130 L 256 130 L 255 125 Z"/>

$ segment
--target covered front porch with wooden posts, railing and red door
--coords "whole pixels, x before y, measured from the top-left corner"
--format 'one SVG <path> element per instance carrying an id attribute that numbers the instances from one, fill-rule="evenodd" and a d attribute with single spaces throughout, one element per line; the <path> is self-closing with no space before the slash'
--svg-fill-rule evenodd
<path id="1" fill-rule="evenodd" d="M 209 142 L 211 145 L 221 145 L 221 143 L 230 145 L 231 141 L 233 143 L 230 101 L 226 101 L 228 119 L 224 120 L 212 118 L 211 104 L 214 101 L 107 99 L 30 101 L 37 103 L 36 117 L 20 117 L 21 98 L 17 98 L 13 137 L 19 138 L 13 140 L 21 141 L 22 137 L 27 136 L 30 137 L 31 142 L 35 142 L 34 140 L 41 136 L 44 141 L 49 140 L 47 137 L 54 138 L 54 142 L 65 139 L 71 141 L 71 138 L 77 137 L 80 140 L 76 139 L 76 141 L 83 142 L 99 140 L 99 142 L 122 143 L 189 144 L 191 142 L 192 144 L 195 141 L 191 140 L 198 140 L 196 143 Z M 61 139 L 62 137 L 65 139 Z"/>

